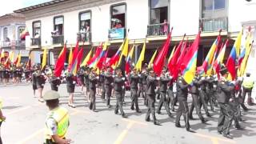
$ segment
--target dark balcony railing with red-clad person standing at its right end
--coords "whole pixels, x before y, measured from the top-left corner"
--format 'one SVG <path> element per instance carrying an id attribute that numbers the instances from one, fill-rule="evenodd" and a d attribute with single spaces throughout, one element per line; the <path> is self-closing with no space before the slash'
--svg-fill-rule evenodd
<path id="1" fill-rule="evenodd" d="M 160 23 L 160 24 L 153 24 L 147 26 L 147 36 L 154 37 L 154 36 L 164 36 L 169 33 L 169 24 L 168 23 Z"/>

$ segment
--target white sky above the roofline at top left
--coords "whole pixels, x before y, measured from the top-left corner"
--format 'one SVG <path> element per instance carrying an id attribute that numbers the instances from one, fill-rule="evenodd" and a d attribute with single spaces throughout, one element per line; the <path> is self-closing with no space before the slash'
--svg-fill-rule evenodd
<path id="1" fill-rule="evenodd" d="M 42 2 L 51 0 L 0 0 L 0 16 L 10 14 L 14 10 L 18 10 L 27 6 L 34 6 Z"/>

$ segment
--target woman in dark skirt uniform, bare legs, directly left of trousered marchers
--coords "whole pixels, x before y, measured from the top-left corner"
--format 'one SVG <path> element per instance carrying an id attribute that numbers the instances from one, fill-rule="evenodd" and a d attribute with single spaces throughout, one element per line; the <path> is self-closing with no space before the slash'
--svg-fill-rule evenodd
<path id="1" fill-rule="evenodd" d="M 70 94 L 68 106 L 75 108 L 74 106 L 74 88 L 76 84 L 76 77 L 68 73 L 66 76 L 66 90 Z"/>

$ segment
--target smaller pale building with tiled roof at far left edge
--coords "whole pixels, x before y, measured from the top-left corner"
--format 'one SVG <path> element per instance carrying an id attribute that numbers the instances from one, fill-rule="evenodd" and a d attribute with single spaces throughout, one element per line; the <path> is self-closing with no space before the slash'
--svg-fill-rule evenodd
<path id="1" fill-rule="evenodd" d="M 29 54 L 25 49 L 25 40 L 21 39 L 21 34 L 25 27 L 25 16 L 22 14 L 12 13 L 0 17 L 0 49 L 13 50 L 14 58 L 21 51 L 22 62 L 26 61 Z"/>

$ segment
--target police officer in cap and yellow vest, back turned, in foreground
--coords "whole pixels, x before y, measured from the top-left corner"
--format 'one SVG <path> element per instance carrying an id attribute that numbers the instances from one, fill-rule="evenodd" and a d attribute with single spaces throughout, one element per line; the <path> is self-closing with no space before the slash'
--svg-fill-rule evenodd
<path id="1" fill-rule="evenodd" d="M 60 95 L 57 91 L 49 90 L 43 95 L 49 113 L 46 117 L 46 144 L 70 144 L 71 140 L 66 139 L 66 132 L 70 126 L 69 114 L 66 108 L 58 106 Z"/>

